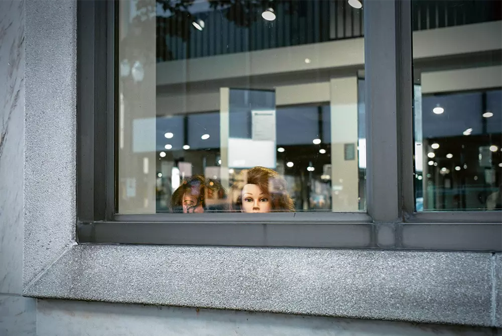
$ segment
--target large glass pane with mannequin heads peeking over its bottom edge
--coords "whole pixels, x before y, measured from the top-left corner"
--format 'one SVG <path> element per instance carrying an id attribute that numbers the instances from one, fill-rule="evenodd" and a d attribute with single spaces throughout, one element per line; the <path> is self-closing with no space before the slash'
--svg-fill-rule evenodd
<path id="1" fill-rule="evenodd" d="M 117 212 L 364 211 L 359 5 L 119 1 Z"/>

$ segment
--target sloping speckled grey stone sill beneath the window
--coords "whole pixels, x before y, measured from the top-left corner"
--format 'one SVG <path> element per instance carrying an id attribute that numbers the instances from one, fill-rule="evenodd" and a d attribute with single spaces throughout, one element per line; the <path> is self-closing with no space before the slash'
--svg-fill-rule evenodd
<path id="1" fill-rule="evenodd" d="M 496 260 L 498 258 L 498 260 Z M 491 253 L 75 245 L 25 296 L 501 326 Z M 455 307 L 455 309 L 452 309 Z"/>

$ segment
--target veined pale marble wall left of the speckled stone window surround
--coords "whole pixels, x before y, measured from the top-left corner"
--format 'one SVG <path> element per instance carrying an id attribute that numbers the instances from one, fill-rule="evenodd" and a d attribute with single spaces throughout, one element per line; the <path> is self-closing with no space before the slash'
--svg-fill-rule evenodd
<path id="1" fill-rule="evenodd" d="M 25 2 L 0 1 L 0 335 L 35 335 L 23 290 Z"/>

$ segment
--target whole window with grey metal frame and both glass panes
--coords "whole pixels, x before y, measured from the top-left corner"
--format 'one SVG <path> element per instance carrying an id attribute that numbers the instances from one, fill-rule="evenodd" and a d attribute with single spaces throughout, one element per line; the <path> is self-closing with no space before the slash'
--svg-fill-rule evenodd
<path id="1" fill-rule="evenodd" d="M 79 241 L 498 251 L 497 4 L 96 12 L 106 33 L 80 47 L 79 160 L 93 162 Z M 86 69 L 106 80 L 85 85 Z M 265 184 L 242 183 L 254 167 Z"/>

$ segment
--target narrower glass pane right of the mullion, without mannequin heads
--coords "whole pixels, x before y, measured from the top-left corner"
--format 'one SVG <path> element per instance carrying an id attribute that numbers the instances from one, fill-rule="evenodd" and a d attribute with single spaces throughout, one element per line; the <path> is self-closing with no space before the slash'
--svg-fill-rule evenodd
<path id="1" fill-rule="evenodd" d="M 502 210 L 502 2 L 414 0 L 417 211 Z"/>

